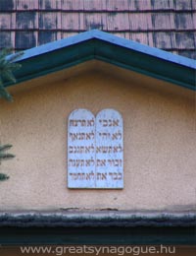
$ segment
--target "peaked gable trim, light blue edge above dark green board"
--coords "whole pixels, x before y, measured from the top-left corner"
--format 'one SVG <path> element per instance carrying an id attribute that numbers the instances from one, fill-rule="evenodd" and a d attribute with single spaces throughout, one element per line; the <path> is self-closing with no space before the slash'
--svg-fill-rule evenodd
<path id="1" fill-rule="evenodd" d="M 195 91 L 194 60 L 97 30 L 25 50 L 15 75 L 20 83 L 92 59 Z"/>

